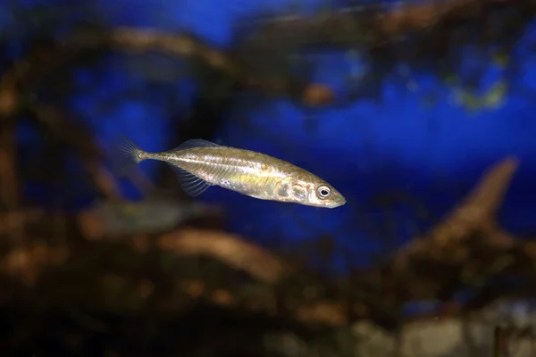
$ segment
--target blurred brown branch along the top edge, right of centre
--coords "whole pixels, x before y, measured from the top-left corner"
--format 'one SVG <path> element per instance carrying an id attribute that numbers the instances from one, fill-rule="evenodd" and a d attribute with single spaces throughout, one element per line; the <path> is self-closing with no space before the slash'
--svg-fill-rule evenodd
<path id="1" fill-rule="evenodd" d="M 295 46 L 389 46 L 408 32 L 430 29 L 440 21 L 482 16 L 485 5 L 508 1 L 399 1 L 390 9 L 381 4 L 357 4 L 355 7 L 336 8 L 313 16 L 286 14 L 259 25 L 250 46 L 273 46 L 280 39 Z"/>

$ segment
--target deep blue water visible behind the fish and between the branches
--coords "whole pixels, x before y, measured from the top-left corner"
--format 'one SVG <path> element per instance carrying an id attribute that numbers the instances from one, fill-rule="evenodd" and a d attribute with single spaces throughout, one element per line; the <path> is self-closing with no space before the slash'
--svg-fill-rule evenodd
<path id="1" fill-rule="evenodd" d="M 36 2 L 26 3 L 31 6 Z M 225 50 L 233 43 L 232 29 L 237 20 L 263 9 L 277 12 L 289 2 L 136 0 L 97 1 L 96 4 L 101 21 L 110 26 L 188 30 Z M 300 11 L 311 12 L 322 2 L 300 4 Z M 22 29 L 29 25 L 22 25 L 20 19 L 4 11 L 0 11 L 0 21 L 13 34 L 10 48 L 15 58 L 20 52 L 18 39 L 23 37 Z M 515 77 L 508 77 L 497 63 L 488 64 L 480 90 L 504 80 L 509 85 L 507 96 L 496 108 L 469 111 L 456 101 L 459 88 L 445 84 L 431 73 L 418 71 L 411 73 L 411 88 L 396 76 L 385 79 L 381 84 L 381 103 L 364 99 L 337 108 L 312 110 L 289 99 L 265 100 L 263 105 L 252 106 L 255 95 L 244 94 L 225 114 L 227 120 L 214 140 L 296 163 L 337 187 L 347 197 L 348 204 L 334 210 L 316 209 L 255 200 L 219 187 L 210 188 L 200 199 L 226 207 L 229 229 L 248 239 L 264 245 L 271 245 L 276 239 L 294 244 L 321 234 L 329 235 L 353 254 L 352 264 L 364 265 L 381 251 L 384 242 L 380 237 L 389 234 L 394 245 L 402 245 L 435 222 L 417 220 L 415 210 L 406 203 L 389 209 L 373 206 L 369 202 L 374 195 L 405 191 L 440 218 L 491 164 L 515 155 L 521 165 L 498 221 L 513 233 L 534 231 L 536 120 L 532 95 L 526 93 L 536 90 L 536 58 L 528 50 L 535 37 L 536 21 L 519 39 L 510 59 L 517 66 Z M 471 46 L 461 49 L 460 56 L 464 65 L 458 75 L 463 76 L 479 58 Z M 80 93 L 73 95 L 70 109 L 86 121 L 104 145 L 117 132 L 149 151 L 178 145 L 171 141 L 170 135 L 174 114 L 169 109 L 170 96 L 176 102 L 175 111 L 183 111 L 182 117 L 186 118 L 197 91 L 195 79 L 160 80 L 173 67 L 169 63 L 166 67 L 163 62 L 162 66 L 151 68 L 151 76 L 159 79 L 148 86 L 147 74 L 137 73 L 139 63 L 135 61 L 132 56 L 113 54 L 106 58 L 105 71 L 100 71 L 98 76 L 90 68 L 80 70 L 76 75 L 77 85 L 80 88 L 92 85 L 98 90 L 80 89 Z M 313 79 L 330 85 L 338 97 L 343 97 L 348 95 L 344 81 L 352 73 L 366 69 L 365 59 L 349 60 L 344 51 L 318 54 L 314 58 Z M 133 88 L 138 96 L 121 100 L 105 112 L 97 110 L 103 101 Z M 423 97 L 431 90 L 436 101 L 425 105 Z M 21 123 L 22 153 L 31 152 L 36 140 Z M 144 162 L 143 169 L 149 178 L 155 179 L 158 165 Z M 72 189 L 78 189 L 75 187 Z M 130 197 L 139 198 L 126 183 L 123 189 Z M 32 186 L 26 187 L 25 192 L 37 204 L 50 203 L 55 195 Z M 77 204 L 87 205 L 94 198 L 92 193 L 80 188 Z M 391 226 L 395 227 L 394 231 L 389 231 Z M 335 262 L 336 266 L 344 264 L 341 260 Z"/>

